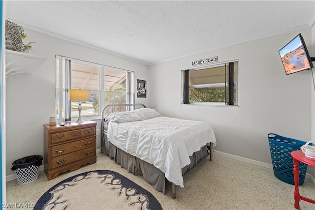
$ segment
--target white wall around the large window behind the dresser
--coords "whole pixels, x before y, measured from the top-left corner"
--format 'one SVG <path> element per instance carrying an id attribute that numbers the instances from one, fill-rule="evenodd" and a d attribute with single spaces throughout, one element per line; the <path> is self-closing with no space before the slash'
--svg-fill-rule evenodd
<path id="1" fill-rule="evenodd" d="M 62 39 L 24 29 L 26 42 L 36 42 L 30 54 L 48 58 L 32 75 L 16 74 L 6 79 L 6 175 L 16 159 L 43 155 L 43 124 L 55 110 L 55 55 L 86 60 L 135 72 L 136 79 L 148 79 L 148 66 Z M 104 40 L 106 41 L 106 40 Z M 135 98 L 148 105 L 149 97 Z M 100 127 L 99 120 L 97 127 Z M 97 136 L 97 147 L 100 148 Z"/>

